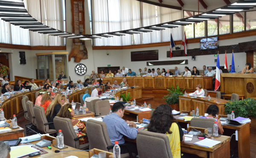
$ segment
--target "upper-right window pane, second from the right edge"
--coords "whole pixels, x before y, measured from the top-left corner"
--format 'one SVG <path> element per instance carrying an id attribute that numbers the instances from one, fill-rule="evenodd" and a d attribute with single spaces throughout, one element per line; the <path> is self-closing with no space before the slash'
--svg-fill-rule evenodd
<path id="1" fill-rule="evenodd" d="M 244 31 L 244 12 L 233 14 L 233 32 Z"/>

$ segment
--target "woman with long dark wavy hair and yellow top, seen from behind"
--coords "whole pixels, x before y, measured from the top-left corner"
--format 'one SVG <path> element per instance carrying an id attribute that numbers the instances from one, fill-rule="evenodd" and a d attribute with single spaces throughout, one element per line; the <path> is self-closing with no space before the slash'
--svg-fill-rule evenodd
<path id="1" fill-rule="evenodd" d="M 172 108 L 166 104 L 159 105 L 151 116 L 148 131 L 166 134 L 170 141 L 173 158 L 180 158 L 180 141 L 185 140 L 183 130 L 172 116 Z"/>

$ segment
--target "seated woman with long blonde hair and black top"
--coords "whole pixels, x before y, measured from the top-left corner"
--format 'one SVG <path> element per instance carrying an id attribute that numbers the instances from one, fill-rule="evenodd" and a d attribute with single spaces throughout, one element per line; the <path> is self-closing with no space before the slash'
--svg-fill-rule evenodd
<path id="1" fill-rule="evenodd" d="M 51 104 L 49 104 L 45 113 L 48 122 L 53 122 L 53 118 L 57 116 L 57 113 L 61 110 L 61 107 L 65 104 L 65 101 L 66 97 L 62 94 L 58 94 Z M 49 124 L 49 128 L 55 129 L 54 124 Z"/>

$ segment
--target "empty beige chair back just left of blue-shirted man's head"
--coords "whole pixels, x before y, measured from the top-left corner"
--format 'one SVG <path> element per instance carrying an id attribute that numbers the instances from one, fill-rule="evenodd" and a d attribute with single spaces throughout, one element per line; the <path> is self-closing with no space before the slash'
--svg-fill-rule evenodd
<path id="1" fill-rule="evenodd" d="M 109 114 L 110 104 L 108 100 L 97 101 L 95 103 L 95 115 L 103 116 Z"/>

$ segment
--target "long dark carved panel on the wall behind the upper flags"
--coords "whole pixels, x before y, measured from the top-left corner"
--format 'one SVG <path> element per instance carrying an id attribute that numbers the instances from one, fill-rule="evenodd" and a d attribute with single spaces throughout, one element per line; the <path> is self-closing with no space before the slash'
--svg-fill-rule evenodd
<path id="1" fill-rule="evenodd" d="M 239 53 L 241 52 L 239 50 L 239 45 L 226 45 L 226 46 L 220 46 L 218 49 L 209 49 L 209 50 L 201 50 L 200 48 L 195 48 L 195 49 L 188 49 L 188 55 L 187 56 L 199 56 L 199 55 L 212 55 L 212 54 L 225 54 L 225 51 L 227 53 L 232 53 L 232 50 L 234 50 L 234 53 Z M 170 51 L 166 52 L 167 58 L 170 57 Z M 178 51 L 173 51 L 172 54 L 173 57 L 177 56 L 185 56 L 184 50 L 178 50 Z"/>

